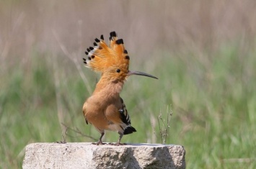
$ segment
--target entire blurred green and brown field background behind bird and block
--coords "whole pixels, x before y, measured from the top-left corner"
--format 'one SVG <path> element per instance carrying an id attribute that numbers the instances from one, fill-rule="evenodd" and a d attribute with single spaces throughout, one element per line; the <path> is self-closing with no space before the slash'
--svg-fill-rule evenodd
<path id="1" fill-rule="evenodd" d="M 185 147 L 187 168 L 256 168 L 254 0 L 0 1 L 0 168 L 21 168 L 25 145 L 60 141 L 66 127 L 67 142 L 100 137 L 81 111 L 100 76 L 81 58 L 113 30 L 130 69 L 159 78 L 125 83 L 137 132 L 123 142 L 166 138 Z"/>

